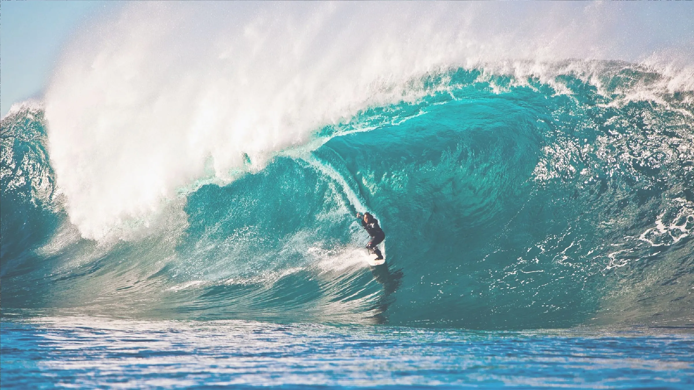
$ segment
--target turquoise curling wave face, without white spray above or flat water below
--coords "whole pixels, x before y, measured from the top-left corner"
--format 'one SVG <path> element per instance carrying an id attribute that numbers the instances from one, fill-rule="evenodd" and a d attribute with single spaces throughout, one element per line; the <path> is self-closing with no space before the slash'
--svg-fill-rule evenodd
<path id="1" fill-rule="evenodd" d="M 130 241 L 81 237 L 39 153 L 42 111 L 13 112 L 3 310 L 464 328 L 688 321 L 689 103 L 611 105 L 569 75 L 573 94 L 480 74 L 460 69 L 445 92 L 323 128 L 330 139 L 310 153 L 202 185 Z M 389 270 L 360 257 L 353 213 L 364 208 L 387 232 Z"/>

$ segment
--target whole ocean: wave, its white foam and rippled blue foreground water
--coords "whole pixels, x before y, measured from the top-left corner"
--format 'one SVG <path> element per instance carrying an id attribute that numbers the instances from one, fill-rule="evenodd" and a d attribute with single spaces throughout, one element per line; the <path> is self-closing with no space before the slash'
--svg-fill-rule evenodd
<path id="1" fill-rule="evenodd" d="M 694 387 L 691 68 L 142 7 L 2 119 L 3 389 Z"/>

